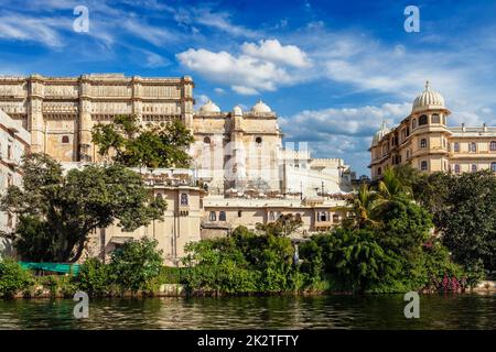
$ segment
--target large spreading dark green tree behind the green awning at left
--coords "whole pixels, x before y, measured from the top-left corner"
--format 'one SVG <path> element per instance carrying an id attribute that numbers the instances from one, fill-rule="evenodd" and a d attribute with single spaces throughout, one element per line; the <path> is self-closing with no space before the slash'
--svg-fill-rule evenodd
<path id="1" fill-rule="evenodd" d="M 89 165 L 63 174 L 46 154 L 26 155 L 21 165 L 22 187 L 10 186 L 1 209 L 19 216 L 12 233 L 22 258 L 75 262 L 88 233 L 117 224 L 132 231 L 161 219 L 166 204 L 153 199 L 141 176 L 121 165 Z"/>

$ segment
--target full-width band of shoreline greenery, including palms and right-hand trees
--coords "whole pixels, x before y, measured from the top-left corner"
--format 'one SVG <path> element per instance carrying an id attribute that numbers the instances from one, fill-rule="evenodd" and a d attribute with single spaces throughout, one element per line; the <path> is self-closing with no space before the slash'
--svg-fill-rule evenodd
<path id="1" fill-rule="evenodd" d="M 182 267 L 163 266 L 148 238 L 126 242 L 108 264 L 88 258 L 77 276 L 35 276 L 3 260 L 0 296 L 463 293 L 496 268 L 490 172 L 425 176 L 389 168 L 343 210 L 348 217 L 338 227 L 304 241 L 290 238 L 301 219 L 284 215 L 256 230 L 238 227 L 227 238 L 188 243 Z M 32 260 L 28 248 L 22 258 Z"/>

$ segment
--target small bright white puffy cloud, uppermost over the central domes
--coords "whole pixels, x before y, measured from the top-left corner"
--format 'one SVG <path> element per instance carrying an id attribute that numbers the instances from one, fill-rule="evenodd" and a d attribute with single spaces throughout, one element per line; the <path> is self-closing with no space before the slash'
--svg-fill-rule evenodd
<path id="1" fill-rule="evenodd" d="M 251 57 L 280 63 L 293 67 L 308 67 L 310 61 L 305 52 L 295 45 L 281 45 L 278 40 L 244 43 L 241 51 Z"/>

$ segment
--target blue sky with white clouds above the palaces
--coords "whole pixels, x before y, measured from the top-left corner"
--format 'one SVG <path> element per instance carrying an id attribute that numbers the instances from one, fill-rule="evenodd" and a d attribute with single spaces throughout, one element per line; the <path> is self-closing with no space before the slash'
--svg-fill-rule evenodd
<path id="1" fill-rule="evenodd" d="M 451 125 L 496 125 L 494 1 L 0 0 L 0 74 L 193 76 L 200 106 L 263 99 L 285 141 L 368 174 L 382 119 L 408 116 L 425 79 Z M 89 31 L 73 30 L 76 6 Z M 407 6 L 420 32 L 403 30 Z"/>

